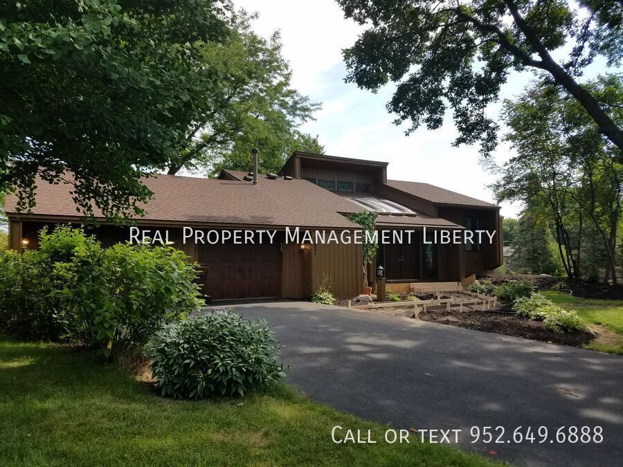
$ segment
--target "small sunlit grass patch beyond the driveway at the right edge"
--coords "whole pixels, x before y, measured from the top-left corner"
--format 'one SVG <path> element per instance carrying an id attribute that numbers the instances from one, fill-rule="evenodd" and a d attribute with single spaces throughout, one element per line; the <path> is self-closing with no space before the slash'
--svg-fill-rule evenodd
<path id="1" fill-rule="evenodd" d="M 564 309 L 577 311 L 590 327 L 597 327 L 597 339 L 586 345 L 587 349 L 623 355 L 623 300 L 572 297 L 559 291 L 541 293 Z M 604 328 L 607 331 L 599 333 Z"/>

